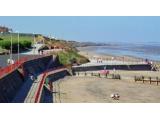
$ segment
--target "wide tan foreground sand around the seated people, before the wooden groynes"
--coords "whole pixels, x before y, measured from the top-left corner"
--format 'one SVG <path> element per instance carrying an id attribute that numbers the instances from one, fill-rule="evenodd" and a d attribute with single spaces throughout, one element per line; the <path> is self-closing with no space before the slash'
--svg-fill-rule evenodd
<path id="1" fill-rule="evenodd" d="M 62 103 L 158 103 L 160 86 L 98 77 L 68 76 L 53 83 L 54 102 Z M 119 100 L 110 95 L 118 93 Z"/>

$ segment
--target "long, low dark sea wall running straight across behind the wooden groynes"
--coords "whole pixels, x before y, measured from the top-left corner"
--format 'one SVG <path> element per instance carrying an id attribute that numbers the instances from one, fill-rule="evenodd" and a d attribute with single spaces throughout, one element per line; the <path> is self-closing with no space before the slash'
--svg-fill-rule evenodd
<path id="1" fill-rule="evenodd" d="M 138 64 L 138 65 L 100 65 L 100 66 L 77 66 L 73 67 L 72 70 L 74 71 L 96 71 L 96 70 L 144 70 L 150 71 L 151 65 L 149 64 Z"/>

